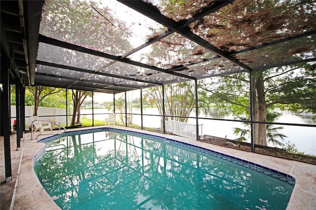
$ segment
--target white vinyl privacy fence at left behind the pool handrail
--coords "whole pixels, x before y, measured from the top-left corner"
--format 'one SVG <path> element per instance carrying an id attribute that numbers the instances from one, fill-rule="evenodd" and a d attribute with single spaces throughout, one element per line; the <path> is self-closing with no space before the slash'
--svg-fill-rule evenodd
<path id="1" fill-rule="evenodd" d="M 25 125 L 31 124 L 30 116 L 33 116 L 34 106 L 25 106 Z M 39 116 L 48 116 L 48 117 L 40 117 L 40 119 L 49 120 L 55 123 L 66 124 L 66 108 L 56 108 L 56 107 L 41 107 L 38 109 Z M 65 115 L 65 116 L 58 116 Z M 11 125 L 13 125 L 13 121 L 16 117 L 16 109 L 15 105 L 11 105 Z"/>

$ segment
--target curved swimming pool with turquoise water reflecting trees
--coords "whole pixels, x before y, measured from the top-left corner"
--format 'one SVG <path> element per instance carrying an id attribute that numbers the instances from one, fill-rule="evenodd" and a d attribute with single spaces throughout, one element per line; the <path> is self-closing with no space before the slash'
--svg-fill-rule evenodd
<path id="1" fill-rule="evenodd" d="M 67 132 L 34 169 L 61 209 L 286 209 L 295 179 L 176 140 L 113 128 Z"/>

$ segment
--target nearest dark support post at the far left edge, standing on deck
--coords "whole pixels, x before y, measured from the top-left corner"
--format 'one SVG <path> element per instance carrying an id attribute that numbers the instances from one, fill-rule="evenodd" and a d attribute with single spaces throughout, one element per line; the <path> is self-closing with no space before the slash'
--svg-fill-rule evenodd
<path id="1" fill-rule="evenodd" d="M 9 84 L 9 59 L 2 53 L 1 46 L 1 77 L 2 90 L 1 93 L 1 124 L 3 129 L 4 139 L 4 167 L 5 167 L 5 181 L 12 181 L 11 169 L 11 150 L 10 150 L 10 84 Z"/>

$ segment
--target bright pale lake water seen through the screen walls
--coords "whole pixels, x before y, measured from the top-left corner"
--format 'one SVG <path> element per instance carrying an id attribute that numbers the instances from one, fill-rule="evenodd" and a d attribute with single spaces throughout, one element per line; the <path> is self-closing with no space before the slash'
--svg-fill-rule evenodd
<path id="1" fill-rule="evenodd" d="M 94 109 L 94 113 L 107 113 L 109 112 L 105 108 Z M 91 109 L 81 109 L 81 114 L 91 114 Z M 140 109 L 133 108 L 133 113 L 140 114 Z M 296 124 L 307 124 L 311 120 L 311 116 L 305 116 L 304 118 L 294 115 L 291 112 L 282 111 L 282 116 L 279 117 L 276 122 L 279 123 L 296 123 Z M 157 108 L 144 108 L 143 114 L 154 114 L 158 115 Z M 192 112 L 190 116 L 195 117 L 195 113 Z M 91 115 L 87 115 L 88 118 L 92 118 Z M 199 117 L 205 117 L 205 115 L 199 115 Z M 218 116 L 219 117 L 219 116 Z M 94 119 L 104 120 L 105 115 L 95 115 Z M 150 128 L 160 128 L 160 117 L 155 116 L 143 116 L 144 126 Z M 233 119 L 233 116 L 226 116 L 225 119 Z M 133 117 L 133 123 L 141 125 L 140 117 Z M 195 119 L 189 119 L 188 123 L 196 124 Z M 199 119 L 199 124 L 203 124 L 202 132 L 203 135 L 210 135 L 220 138 L 227 138 L 234 140 L 237 138 L 234 135 L 234 128 L 243 128 L 243 124 L 240 122 L 230 122 L 230 121 L 219 121 L 219 120 L 208 120 Z M 277 126 L 276 127 L 281 127 Z M 300 152 L 305 152 L 305 154 L 316 155 L 316 128 L 315 127 L 302 127 L 302 126 L 282 126 L 283 129 L 280 130 L 281 134 L 285 134 L 287 138 L 284 140 L 290 142 L 290 144 L 295 144 L 295 148 Z M 249 141 L 250 142 L 250 141 Z M 273 145 L 270 145 L 273 146 Z"/>

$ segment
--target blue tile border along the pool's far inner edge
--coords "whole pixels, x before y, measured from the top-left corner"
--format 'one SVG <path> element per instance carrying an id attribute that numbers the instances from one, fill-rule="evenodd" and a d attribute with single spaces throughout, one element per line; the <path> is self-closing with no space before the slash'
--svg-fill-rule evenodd
<path id="1" fill-rule="evenodd" d="M 57 134 L 57 135 L 54 135 L 51 137 L 47 137 L 47 138 L 38 140 L 38 142 L 46 143 L 46 142 L 49 142 L 51 140 L 55 140 L 55 139 L 70 136 L 70 135 L 79 135 L 79 134 L 95 133 L 95 132 L 103 132 L 103 131 L 111 131 L 111 132 L 116 132 L 116 133 L 123 132 L 124 134 L 132 135 L 132 136 L 138 136 L 138 137 L 142 137 L 142 138 L 150 137 L 151 139 L 158 140 L 158 141 L 168 141 L 168 143 L 172 143 L 172 144 L 175 144 L 178 146 L 193 149 L 193 150 L 196 150 L 196 151 L 199 151 L 199 152 L 202 152 L 202 153 L 205 153 L 205 154 L 229 161 L 231 163 L 235 163 L 237 165 L 252 169 L 252 170 L 260 172 L 262 174 L 272 176 L 272 177 L 277 178 L 279 180 L 285 181 L 293 186 L 295 185 L 295 182 L 296 182 L 295 178 L 291 175 L 285 174 L 285 173 L 277 171 L 275 169 L 271 169 L 271 168 L 266 167 L 266 166 L 262 166 L 260 164 L 257 164 L 257 163 L 251 162 L 251 161 L 247 161 L 247 160 L 243 160 L 241 158 L 234 157 L 232 155 L 224 154 L 224 153 L 221 153 L 218 151 L 214 151 L 214 150 L 211 150 L 208 148 L 204 148 L 201 146 L 197 146 L 197 145 L 183 142 L 183 141 L 179 141 L 179 140 L 172 140 L 172 139 L 159 137 L 159 136 L 152 135 L 152 134 L 144 134 L 144 133 L 140 133 L 140 132 L 127 131 L 127 130 L 117 129 L 117 128 L 93 128 L 93 129 L 86 129 L 86 130 L 79 130 L 79 131 L 67 131 L 63 134 Z M 39 155 L 39 156 L 41 156 L 41 155 Z"/>

